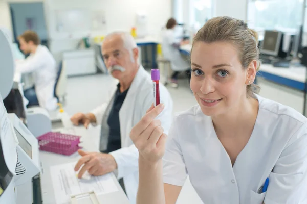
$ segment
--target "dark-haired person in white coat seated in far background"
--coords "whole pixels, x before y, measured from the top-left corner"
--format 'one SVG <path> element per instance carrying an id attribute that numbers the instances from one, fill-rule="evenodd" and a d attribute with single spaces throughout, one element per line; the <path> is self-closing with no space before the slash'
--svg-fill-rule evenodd
<path id="1" fill-rule="evenodd" d="M 178 87 L 178 75 L 180 72 L 187 71 L 190 67 L 179 52 L 180 45 L 189 44 L 190 41 L 182 41 L 176 38 L 174 32 L 176 25 L 177 21 L 174 18 L 170 18 L 166 23 L 166 30 L 162 35 L 163 58 L 170 61 L 170 66 L 173 70 L 171 83 L 174 87 Z"/>

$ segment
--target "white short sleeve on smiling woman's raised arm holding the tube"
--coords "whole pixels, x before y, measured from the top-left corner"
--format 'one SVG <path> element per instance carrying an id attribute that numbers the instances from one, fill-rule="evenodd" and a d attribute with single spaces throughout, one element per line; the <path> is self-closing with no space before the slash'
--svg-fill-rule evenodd
<path id="1" fill-rule="evenodd" d="M 183 186 L 187 178 L 176 125 L 173 121 L 167 136 L 165 154 L 163 157 L 163 181 L 166 184 Z"/>

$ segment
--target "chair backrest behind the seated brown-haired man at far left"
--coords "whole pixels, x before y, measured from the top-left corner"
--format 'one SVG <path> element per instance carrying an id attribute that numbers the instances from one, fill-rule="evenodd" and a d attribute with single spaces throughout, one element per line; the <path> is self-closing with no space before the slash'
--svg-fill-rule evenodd
<path id="1" fill-rule="evenodd" d="M 66 86 L 67 86 L 67 75 L 66 75 L 65 62 L 61 61 L 54 85 L 54 97 L 56 97 L 58 101 L 60 97 L 63 97 L 65 95 Z"/>

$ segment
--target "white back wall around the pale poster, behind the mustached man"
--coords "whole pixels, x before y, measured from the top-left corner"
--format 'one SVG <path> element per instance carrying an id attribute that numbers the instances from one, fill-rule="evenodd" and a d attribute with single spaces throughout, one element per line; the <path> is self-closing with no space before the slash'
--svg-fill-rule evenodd
<path id="1" fill-rule="evenodd" d="M 0 0 L 0 25 L 9 29 L 11 16 L 7 2 L 39 2 L 39 0 Z M 46 24 L 50 38 L 50 49 L 57 61 L 64 50 L 75 49 L 78 39 L 70 39 L 56 31 L 55 10 L 93 9 L 104 10 L 106 15 L 106 31 L 86 33 L 105 35 L 116 30 L 129 32 L 135 26 L 136 13 L 145 12 L 148 17 L 148 31 L 158 35 L 171 17 L 171 0 L 40 0 L 45 4 Z"/>

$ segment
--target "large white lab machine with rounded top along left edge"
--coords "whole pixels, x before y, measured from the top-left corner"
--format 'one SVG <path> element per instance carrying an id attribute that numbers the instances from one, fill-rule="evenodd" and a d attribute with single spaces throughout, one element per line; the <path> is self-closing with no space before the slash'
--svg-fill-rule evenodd
<path id="1" fill-rule="evenodd" d="M 14 78 L 14 61 L 10 42 L 0 29 L 0 57 L 2 57 L 0 60 L 0 143 L 3 156 L 0 158 L 4 158 L 3 161 L 0 161 L 0 166 L 8 167 L 8 171 L 0 175 L 2 185 L 4 184 L 3 179 L 6 181 L 6 188 L 3 188 L 0 203 L 13 204 L 16 201 L 23 204 L 32 203 L 32 201 L 42 203 L 37 141 L 23 124 L 25 120 L 22 122 L 15 114 L 8 115 L 2 103 L 1 95 L 6 97 L 12 90 Z M 18 139 L 20 140 L 19 145 Z M 5 168 L 1 168 L 0 171 L 3 169 Z M 18 173 L 15 172 L 16 170 Z"/>

